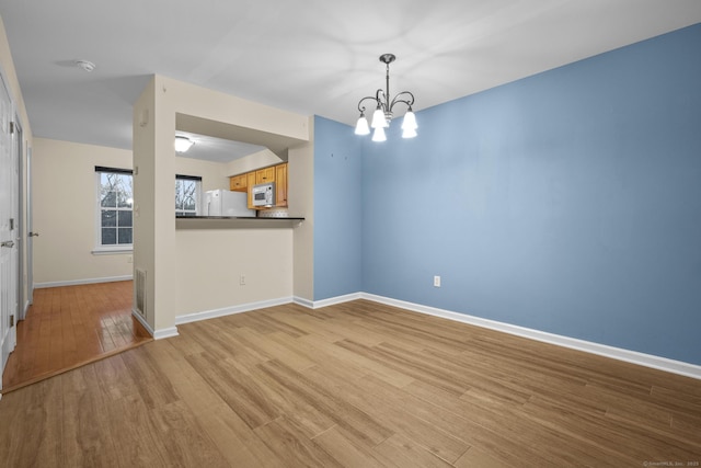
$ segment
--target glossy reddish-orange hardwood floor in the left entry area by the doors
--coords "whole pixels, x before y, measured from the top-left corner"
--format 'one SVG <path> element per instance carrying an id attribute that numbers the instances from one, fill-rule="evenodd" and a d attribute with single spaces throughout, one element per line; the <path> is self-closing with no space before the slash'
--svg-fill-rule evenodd
<path id="1" fill-rule="evenodd" d="M 126 281 L 36 289 L 18 323 L 2 392 L 151 341 L 131 317 L 131 288 Z"/>

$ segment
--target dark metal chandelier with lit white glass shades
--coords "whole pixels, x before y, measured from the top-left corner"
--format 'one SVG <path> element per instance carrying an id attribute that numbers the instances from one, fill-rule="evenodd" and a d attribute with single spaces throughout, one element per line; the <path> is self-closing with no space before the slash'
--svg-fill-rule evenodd
<path id="1" fill-rule="evenodd" d="M 370 127 L 374 129 L 372 133 L 372 141 L 384 141 L 387 140 L 387 136 L 384 135 L 384 128 L 390 126 L 390 122 L 392 121 L 392 110 L 394 109 L 394 104 L 402 103 L 405 104 L 407 110 L 406 114 L 404 114 L 404 119 L 402 121 L 402 138 L 413 138 L 416 136 L 416 116 L 412 111 L 412 105 L 414 104 L 414 94 L 409 91 L 402 91 L 397 94 L 390 101 L 390 64 L 394 61 L 397 57 L 393 54 L 382 54 L 380 56 L 380 61 L 387 66 L 387 87 L 386 90 L 377 90 L 375 96 L 366 96 L 363 98 L 358 102 L 358 111 L 360 111 L 360 117 L 355 126 L 356 135 L 368 135 L 370 133 Z M 372 114 L 372 124 L 368 126 L 368 119 L 365 117 L 365 105 L 363 103 L 367 100 L 375 101 L 375 113 Z"/>

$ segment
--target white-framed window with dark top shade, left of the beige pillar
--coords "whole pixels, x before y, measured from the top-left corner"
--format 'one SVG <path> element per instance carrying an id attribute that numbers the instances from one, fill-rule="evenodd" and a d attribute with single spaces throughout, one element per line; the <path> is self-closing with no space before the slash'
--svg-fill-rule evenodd
<path id="1" fill-rule="evenodd" d="M 95 167 L 97 179 L 97 250 L 130 250 L 134 225 L 131 170 Z"/>

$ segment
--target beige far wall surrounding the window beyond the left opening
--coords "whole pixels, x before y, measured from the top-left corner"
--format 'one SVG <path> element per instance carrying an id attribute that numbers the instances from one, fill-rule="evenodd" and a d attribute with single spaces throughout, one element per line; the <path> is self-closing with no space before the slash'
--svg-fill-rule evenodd
<path id="1" fill-rule="evenodd" d="M 95 165 L 130 169 L 131 151 L 34 139 L 34 283 L 57 284 L 131 276 L 131 254 L 93 254 Z"/>

